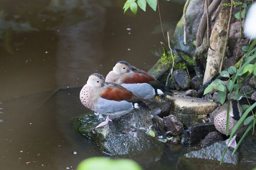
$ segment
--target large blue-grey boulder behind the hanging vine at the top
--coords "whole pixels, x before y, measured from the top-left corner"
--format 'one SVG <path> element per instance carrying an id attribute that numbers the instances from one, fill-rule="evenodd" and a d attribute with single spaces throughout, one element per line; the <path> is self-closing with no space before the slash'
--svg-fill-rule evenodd
<path id="1" fill-rule="evenodd" d="M 186 20 L 187 20 L 187 43 L 184 45 L 183 41 L 183 16 L 177 23 L 176 29 L 171 39 L 171 47 L 183 50 L 190 55 L 195 53 L 194 40 L 196 40 L 198 23 L 203 13 L 203 0 L 190 0 L 187 7 Z"/>

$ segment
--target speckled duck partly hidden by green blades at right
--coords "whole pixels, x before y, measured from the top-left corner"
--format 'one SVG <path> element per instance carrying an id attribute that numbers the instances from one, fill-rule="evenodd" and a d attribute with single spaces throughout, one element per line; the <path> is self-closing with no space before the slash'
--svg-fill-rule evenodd
<path id="1" fill-rule="evenodd" d="M 226 122 L 227 122 L 227 112 L 228 112 L 228 103 L 225 102 L 217 111 L 216 116 L 214 118 L 214 125 L 218 132 L 223 135 L 226 135 Z M 228 135 L 231 134 L 232 129 L 238 122 L 238 120 L 242 116 L 242 108 L 237 100 L 232 100 L 230 102 L 230 110 L 229 110 L 229 129 Z M 228 147 L 235 148 L 236 147 L 236 135 L 239 134 L 243 129 L 243 125 L 237 129 L 236 134 L 232 137 L 231 141 L 228 143 Z"/>

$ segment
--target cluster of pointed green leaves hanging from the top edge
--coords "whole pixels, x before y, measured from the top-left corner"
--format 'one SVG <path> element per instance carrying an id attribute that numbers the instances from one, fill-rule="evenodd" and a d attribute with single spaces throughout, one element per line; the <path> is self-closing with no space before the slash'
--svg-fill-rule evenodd
<path id="1" fill-rule="evenodd" d="M 157 10 L 158 0 L 126 0 L 123 5 L 124 13 L 130 8 L 131 11 L 136 14 L 138 6 L 143 11 L 146 11 L 147 4 L 154 10 Z"/>

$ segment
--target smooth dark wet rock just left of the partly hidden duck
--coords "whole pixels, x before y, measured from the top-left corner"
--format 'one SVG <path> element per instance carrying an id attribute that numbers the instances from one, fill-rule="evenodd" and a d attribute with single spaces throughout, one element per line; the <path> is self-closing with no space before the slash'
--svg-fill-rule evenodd
<path id="1" fill-rule="evenodd" d="M 189 130 L 189 144 L 197 144 L 202 140 L 209 132 L 216 131 L 216 128 L 213 123 L 195 123 Z"/>

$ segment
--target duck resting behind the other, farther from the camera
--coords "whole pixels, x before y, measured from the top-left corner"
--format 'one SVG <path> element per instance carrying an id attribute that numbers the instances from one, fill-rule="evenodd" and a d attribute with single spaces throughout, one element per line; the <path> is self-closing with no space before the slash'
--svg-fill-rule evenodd
<path id="1" fill-rule="evenodd" d="M 107 74 L 106 82 L 121 85 L 146 100 L 152 100 L 158 95 L 173 94 L 171 90 L 161 84 L 152 75 L 131 66 L 126 61 L 118 61 L 115 64 L 113 70 Z"/>

